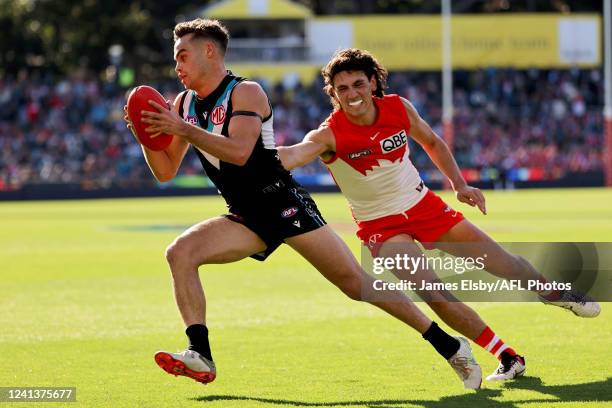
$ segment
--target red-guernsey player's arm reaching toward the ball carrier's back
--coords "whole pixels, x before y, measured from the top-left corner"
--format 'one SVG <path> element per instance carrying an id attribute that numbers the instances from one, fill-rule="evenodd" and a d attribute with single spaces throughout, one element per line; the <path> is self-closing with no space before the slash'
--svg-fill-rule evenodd
<path id="1" fill-rule="evenodd" d="M 306 134 L 304 140 L 293 146 L 277 148 L 283 167 L 292 170 L 304 166 L 317 157 L 331 159 L 336 149 L 334 134 L 328 127 L 320 127 Z"/>

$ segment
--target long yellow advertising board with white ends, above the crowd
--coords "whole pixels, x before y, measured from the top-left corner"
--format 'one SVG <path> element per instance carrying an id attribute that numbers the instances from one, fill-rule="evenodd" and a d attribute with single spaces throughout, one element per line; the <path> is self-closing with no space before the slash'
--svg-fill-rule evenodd
<path id="1" fill-rule="evenodd" d="M 308 35 L 316 60 L 338 48 L 357 47 L 377 55 L 391 70 L 438 70 L 441 24 L 439 16 L 332 17 L 311 21 Z M 452 18 L 451 36 L 458 69 L 601 64 L 601 21 L 594 14 L 459 15 Z"/>

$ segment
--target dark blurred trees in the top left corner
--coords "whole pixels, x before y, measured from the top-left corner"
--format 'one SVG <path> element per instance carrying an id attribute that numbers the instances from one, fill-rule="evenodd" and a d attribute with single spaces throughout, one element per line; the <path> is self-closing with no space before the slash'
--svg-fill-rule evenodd
<path id="1" fill-rule="evenodd" d="M 122 64 L 137 76 L 164 75 L 159 67 L 171 62 L 172 28 L 194 5 L 186 0 L 3 1 L 0 77 L 22 69 L 103 73 L 114 44 L 123 49 Z"/>

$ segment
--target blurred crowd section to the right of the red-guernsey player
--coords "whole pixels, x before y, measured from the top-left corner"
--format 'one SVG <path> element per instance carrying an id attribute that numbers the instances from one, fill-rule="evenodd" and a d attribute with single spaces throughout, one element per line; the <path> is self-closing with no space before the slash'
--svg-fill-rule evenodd
<path id="1" fill-rule="evenodd" d="M 461 168 L 537 169 L 556 179 L 602 168 L 603 90 L 599 70 L 483 70 L 454 75 L 454 153 Z M 439 75 L 390 81 L 442 133 Z M 430 161 L 413 158 L 417 168 Z M 429 166 L 430 167 L 430 166 Z"/>

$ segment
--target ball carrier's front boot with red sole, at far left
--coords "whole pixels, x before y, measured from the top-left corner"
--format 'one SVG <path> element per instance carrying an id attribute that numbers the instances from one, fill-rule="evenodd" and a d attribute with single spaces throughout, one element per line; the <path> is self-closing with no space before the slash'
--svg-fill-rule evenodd
<path id="1" fill-rule="evenodd" d="M 155 362 L 168 374 L 193 378 L 202 384 L 214 381 L 217 376 L 215 363 L 193 350 L 182 353 L 158 351 Z"/>

